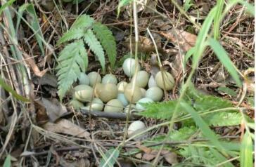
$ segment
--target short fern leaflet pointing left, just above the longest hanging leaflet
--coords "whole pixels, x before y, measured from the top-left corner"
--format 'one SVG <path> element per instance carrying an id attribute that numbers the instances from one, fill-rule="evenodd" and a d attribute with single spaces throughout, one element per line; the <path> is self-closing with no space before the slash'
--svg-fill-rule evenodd
<path id="1" fill-rule="evenodd" d="M 81 28 L 70 29 L 68 32 L 63 34 L 63 36 L 58 40 L 57 45 L 73 39 L 81 39 L 83 36 L 84 36 L 84 29 L 81 29 Z"/>

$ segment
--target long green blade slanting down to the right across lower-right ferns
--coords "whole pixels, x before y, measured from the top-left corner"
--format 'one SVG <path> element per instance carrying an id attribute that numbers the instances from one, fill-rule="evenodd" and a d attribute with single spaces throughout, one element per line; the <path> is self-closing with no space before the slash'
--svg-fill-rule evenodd
<path id="1" fill-rule="evenodd" d="M 223 154 L 226 154 L 226 150 L 224 149 L 222 144 L 218 141 L 218 138 L 215 135 L 215 133 L 210 130 L 207 123 L 205 123 L 205 121 L 199 116 L 199 114 L 195 111 L 195 109 L 193 109 L 193 107 L 188 105 L 186 102 L 181 102 L 181 107 L 183 107 L 186 110 L 186 112 L 191 114 L 193 120 L 196 122 L 196 124 L 202 131 L 203 135 L 205 135 L 205 137 L 208 138 L 210 142 L 212 142 L 212 144 L 215 145 L 217 149 L 219 149 L 220 152 L 222 152 Z"/>

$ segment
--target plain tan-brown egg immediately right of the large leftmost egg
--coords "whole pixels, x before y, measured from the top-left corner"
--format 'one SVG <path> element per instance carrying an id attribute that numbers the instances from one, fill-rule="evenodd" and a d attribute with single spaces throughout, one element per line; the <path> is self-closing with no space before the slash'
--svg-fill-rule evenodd
<path id="1" fill-rule="evenodd" d="M 106 83 L 105 85 L 98 85 L 97 94 L 103 102 L 108 102 L 114 98 L 117 98 L 117 86 L 113 83 Z"/>

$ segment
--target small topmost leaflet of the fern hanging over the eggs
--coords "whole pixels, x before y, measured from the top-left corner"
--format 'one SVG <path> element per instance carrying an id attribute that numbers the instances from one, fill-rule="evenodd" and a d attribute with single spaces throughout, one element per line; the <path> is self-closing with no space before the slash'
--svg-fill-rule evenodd
<path id="1" fill-rule="evenodd" d="M 70 29 L 84 28 L 87 29 L 94 24 L 94 19 L 89 15 L 80 15 Z"/>

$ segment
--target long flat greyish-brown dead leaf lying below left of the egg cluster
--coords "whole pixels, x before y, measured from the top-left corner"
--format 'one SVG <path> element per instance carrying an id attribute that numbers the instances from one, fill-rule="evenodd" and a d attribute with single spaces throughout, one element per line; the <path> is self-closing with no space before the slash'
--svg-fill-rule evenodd
<path id="1" fill-rule="evenodd" d="M 44 124 L 43 128 L 46 131 L 51 131 L 53 133 L 64 133 L 79 138 L 89 139 L 90 136 L 90 133 L 67 119 L 61 119 L 56 123 L 47 122 Z"/>

